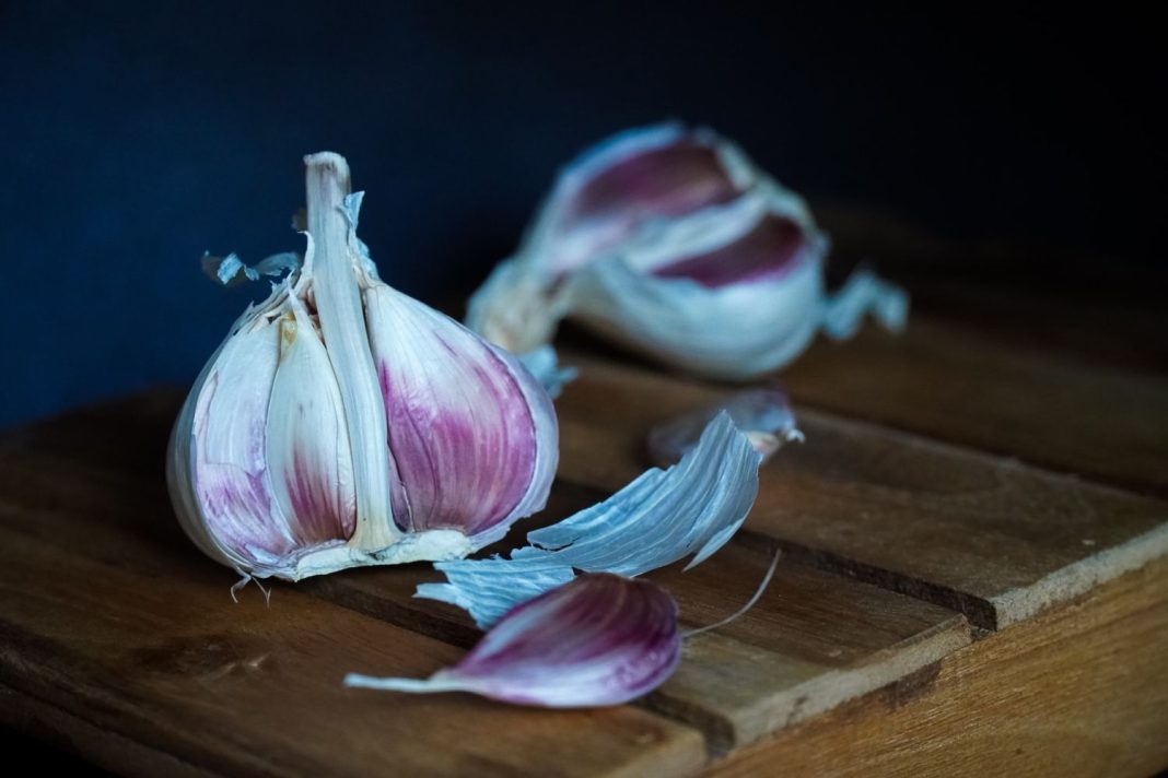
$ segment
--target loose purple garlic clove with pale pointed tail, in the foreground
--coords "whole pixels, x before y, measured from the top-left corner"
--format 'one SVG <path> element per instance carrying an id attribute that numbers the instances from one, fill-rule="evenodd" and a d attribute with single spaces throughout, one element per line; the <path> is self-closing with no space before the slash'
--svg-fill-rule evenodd
<path id="1" fill-rule="evenodd" d="M 585 574 L 513 608 L 457 665 L 426 680 L 349 674 L 345 685 L 397 692 L 471 692 L 547 708 L 639 698 L 681 659 L 677 605 L 655 583 Z"/>

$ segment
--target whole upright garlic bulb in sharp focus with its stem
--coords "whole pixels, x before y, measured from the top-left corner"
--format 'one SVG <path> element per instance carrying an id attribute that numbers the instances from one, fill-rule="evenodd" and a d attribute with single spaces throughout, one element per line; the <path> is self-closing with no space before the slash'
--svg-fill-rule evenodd
<path id="1" fill-rule="evenodd" d="M 307 250 L 211 356 L 175 425 L 179 520 L 249 577 L 453 560 L 544 505 L 556 418 L 512 356 L 392 289 L 343 157 L 307 166 Z M 207 262 L 224 282 L 242 268 Z M 263 265 L 263 264 L 262 264 Z"/>

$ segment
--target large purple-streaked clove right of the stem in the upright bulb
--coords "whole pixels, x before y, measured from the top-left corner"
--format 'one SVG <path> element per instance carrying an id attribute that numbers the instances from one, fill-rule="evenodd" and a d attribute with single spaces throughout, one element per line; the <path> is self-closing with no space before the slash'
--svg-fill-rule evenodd
<path id="1" fill-rule="evenodd" d="M 457 528 L 478 546 L 541 509 L 556 425 L 516 360 L 384 285 L 366 292 L 366 317 L 404 493 L 398 526 Z"/>

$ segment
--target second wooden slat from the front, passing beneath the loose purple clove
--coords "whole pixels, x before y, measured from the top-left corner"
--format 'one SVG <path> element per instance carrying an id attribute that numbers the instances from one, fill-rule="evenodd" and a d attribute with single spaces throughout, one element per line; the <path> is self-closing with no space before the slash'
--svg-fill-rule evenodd
<path id="1" fill-rule="evenodd" d="M 651 573 L 677 600 L 683 625 L 721 621 L 745 603 L 773 552 L 731 542 L 697 568 Z M 467 615 L 412 598 L 432 570 L 381 568 L 307 582 L 307 590 L 410 629 L 470 645 Z M 743 617 L 686 642 L 674 677 L 646 700 L 697 727 L 717 751 L 738 748 L 937 661 L 969 643 L 953 611 L 832 573 L 780 563 Z"/>

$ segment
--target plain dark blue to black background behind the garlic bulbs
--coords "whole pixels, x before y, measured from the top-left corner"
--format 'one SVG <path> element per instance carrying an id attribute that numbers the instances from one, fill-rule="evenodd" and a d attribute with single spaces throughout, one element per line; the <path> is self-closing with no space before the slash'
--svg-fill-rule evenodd
<path id="1" fill-rule="evenodd" d="M 0 5 L 0 426 L 189 381 L 299 239 L 300 157 L 349 157 L 383 276 L 433 297 L 510 251 L 554 169 L 708 122 L 812 198 L 954 236 L 1159 260 L 1154 26 L 735 3 Z"/>

